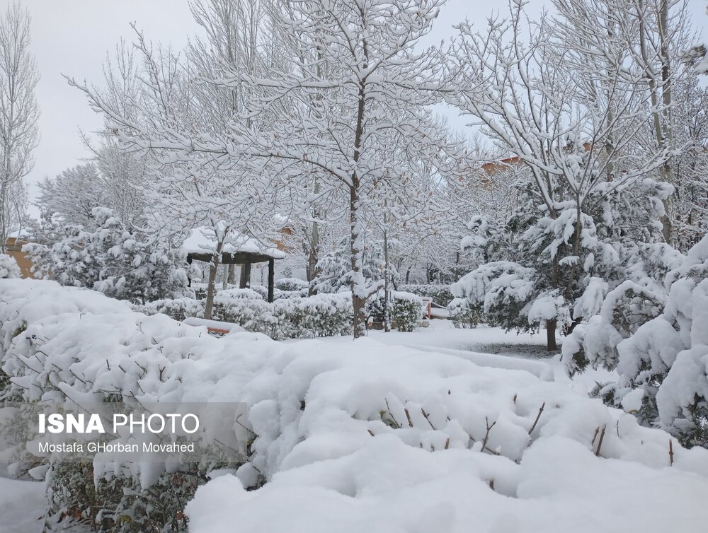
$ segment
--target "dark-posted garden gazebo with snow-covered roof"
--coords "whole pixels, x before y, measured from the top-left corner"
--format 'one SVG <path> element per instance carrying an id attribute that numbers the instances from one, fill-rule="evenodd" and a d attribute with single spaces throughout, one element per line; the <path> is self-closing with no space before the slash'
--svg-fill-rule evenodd
<path id="1" fill-rule="evenodd" d="M 212 256 L 217 250 L 217 243 L 209 237 L 207 228 L 195 228 L 185 240 L 182 249 L 187 254 L 187 262 L 212 262 Z M 285 252 L 278 247 L 266 247 L 261 242 L 245 235 L 234 235 L 222 247 L 220 264 L 240 264 L 240 288 L 247 288 L 251 281 L 251 265 L 253 263 L 268 263 L 268 302 L 274 300 L 275 259 L 283 259 Z"/>

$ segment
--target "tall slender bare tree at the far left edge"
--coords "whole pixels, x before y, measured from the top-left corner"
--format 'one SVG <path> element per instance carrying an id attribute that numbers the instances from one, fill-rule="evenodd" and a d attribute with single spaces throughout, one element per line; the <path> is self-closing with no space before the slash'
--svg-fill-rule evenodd
<path id="1" fill-rule="evenodd" d="M 33 168 L 39 140 L 39 80 L 30 52 L 30 16 L 20 4 L 0 15 L 0 252 L 8 234 L 23 222 L 27 205 L 23 178 Z"/>

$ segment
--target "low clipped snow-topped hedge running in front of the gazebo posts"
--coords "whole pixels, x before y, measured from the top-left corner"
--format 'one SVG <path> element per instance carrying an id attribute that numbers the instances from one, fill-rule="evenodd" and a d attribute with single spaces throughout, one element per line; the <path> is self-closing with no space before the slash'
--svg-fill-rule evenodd
<path id="1" fill-rule="evenodd" d="M 351 334 L 353 312 L 348 298 L 348 293 L 317 294 L 306 298 L 292 295 L 268 303 L 252 289 L 227 289 L 216 293 L 212 318 L 239 324 L 246 331 L 264 333 L 271 339 L 348 335 Z M 203 317 L 205 300 L 156 300 L 135 308 L 146 315 L 164 313 L 175 320 L 184 320 L 186 317 Z"/>

